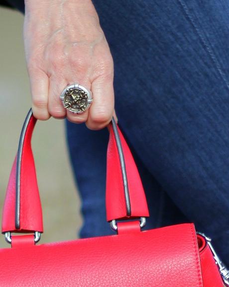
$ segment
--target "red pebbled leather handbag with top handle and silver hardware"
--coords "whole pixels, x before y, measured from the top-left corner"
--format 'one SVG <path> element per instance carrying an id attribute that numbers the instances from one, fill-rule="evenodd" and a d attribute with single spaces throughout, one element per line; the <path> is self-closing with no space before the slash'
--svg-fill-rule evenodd
<path id="1" fill-rule="evenodd" d="M 31 150 L 35 123 L 30 110 L 6 191 L 2 233 L 11 248 L 0 249 L 0 286 L 229 285 L 229 271 L 211 240 L 196 234 L 194 224 L 141 230 L 149 216 L 146 198 L 130 150 L 114 119 L 108 127 L 106 208 L 107 220 L 116 234 L 36 244 L 43 224 Z"/>

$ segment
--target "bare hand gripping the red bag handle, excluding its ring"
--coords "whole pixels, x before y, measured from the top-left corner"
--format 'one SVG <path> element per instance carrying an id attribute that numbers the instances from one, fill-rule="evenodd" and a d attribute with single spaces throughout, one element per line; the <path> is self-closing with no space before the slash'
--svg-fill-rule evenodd
<path id="1" fill-rule="evenodd" d="M 24 46 L 37 119 L 67 116 L 98 130 L 116 118 L 113 58 L 91 0 L 25 0 Z M 93 93 L 83 114 L 66 110 L 60 100 L 73 83 Z"/>

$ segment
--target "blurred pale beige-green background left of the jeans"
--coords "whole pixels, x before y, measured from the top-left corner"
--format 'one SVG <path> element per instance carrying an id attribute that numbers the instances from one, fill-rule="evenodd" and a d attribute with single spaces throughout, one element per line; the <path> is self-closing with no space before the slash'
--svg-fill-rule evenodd
<path id="1" fill-rule="evenodd" d="M 0 8 L 0 211 L 20 130 L 31 105 L 22 29 L 21 13 Z M 77 238 L 82 217 L 65 143 L 64 121 L 39 121 L 32 145 L 43 207 L 41 243 Z M 3 246 L 10 247 L 1 235 L 0 247 Z"/>

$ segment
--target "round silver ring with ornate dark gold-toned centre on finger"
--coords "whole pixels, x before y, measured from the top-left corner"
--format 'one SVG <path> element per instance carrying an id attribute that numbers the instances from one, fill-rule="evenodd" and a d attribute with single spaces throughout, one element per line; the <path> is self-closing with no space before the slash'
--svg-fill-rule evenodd
<path id="1" fill-rule="evenodd" d="M 93 102 L 92 92 L 80 84 L 68 85 L 60 95 L 64 108 L 74 114 L 82 114 Z"/>

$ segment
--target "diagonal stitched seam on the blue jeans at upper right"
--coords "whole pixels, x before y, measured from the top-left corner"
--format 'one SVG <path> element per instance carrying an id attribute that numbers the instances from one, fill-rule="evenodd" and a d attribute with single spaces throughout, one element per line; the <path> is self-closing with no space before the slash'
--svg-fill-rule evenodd
<path id="1" fill-rule="evenodd" d="M 190 20 L 191 24 L 195 28 L 197 34 L 199 35 L 199 37 L 202 41 L 203 46 L 206 48 L 206 51 L 208 52 L 213 64 L 216 65 L 217 71 L 220 73 L 220 76 L 222 77 L 223 81 L 226 83 L 227 88 L 229 89 L 229 82 L 226 79 L 224 72 L 222 72 L 220 63 L 218 62 L 217 58 L 215 57 L 214 52 L 212 51 L 211 47 L 208 45 L 203 33 L 197 27 L 191 13 L 188 10 L 187 5 L 185 4 L 184 0 L 178 0 L 178 2 L 180 3 L 181 7 L 183 8 L 183 10 L 184 10 L 185 14 L 187 15 L 188 19 Z"/>

